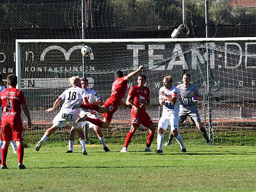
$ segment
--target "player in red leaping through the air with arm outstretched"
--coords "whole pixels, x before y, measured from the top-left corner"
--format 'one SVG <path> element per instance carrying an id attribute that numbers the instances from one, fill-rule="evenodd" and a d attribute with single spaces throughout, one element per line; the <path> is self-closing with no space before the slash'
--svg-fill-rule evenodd
<path id="1" fill-rule="evenodd" d="M 131 79 L 133 76 L 138 74 L 143 69 L 143 66 L 140 66 L 137 70 L 134 70 L 133 72 L 129 73 L 127 76 L 124 76 L 124 73 L 120 70 L 118 70 L 115 73 L 115 81 L 112 84 L 111 89 L 111 96 L 106 100 L 106 102 L 99 106 L 97 104 L 76 104 L 73 106 L 72 109 L 75 108 L 84 108 L 84 109 L 90 109 L 98 111 L 99 113 L 103 113 L 102 116 L 104 117 L 103 121 L 99 118 L 89 118 L 87 115 L 84 115 L 83 118 L 79 118 L 77 122 L 83 122 L 88 121 L 92 124 L 98 125 L 102 128 L 108 128 L 113 114 L 117 110 L 118 106 L 121 104 L 122 106 L 128 107 L 124 102 L 122 102 L 122 99 L 124 98 L 126 89 L 127 89 L 127 83 L 128 80 Z"/>

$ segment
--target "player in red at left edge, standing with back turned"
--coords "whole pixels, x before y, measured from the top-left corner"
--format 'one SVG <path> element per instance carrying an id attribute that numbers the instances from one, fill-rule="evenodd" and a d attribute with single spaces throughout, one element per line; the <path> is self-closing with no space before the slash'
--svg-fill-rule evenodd
<path id="1" fill-rule="evenodd" d="M 24 94 L 22 91 L 16 89 L 16 85 L 18 83 L 17 79 L 18 78 L 17 76 L 15 76 L 15 74 L 10 74 L 9 76 L 7 76 L 7 84 L 9 85 L 9 88 L 0 93 L 0 106 L 3 106 L 3 116 L 1 125 L 1 133 L 3 136 L 3 146 L 1 147 L 1 169 L 7 169 L 6 157 L 8 153 L 8 146 L 12 138 L 17 143 L 18 168 L 26 168 L 24 164 L 22 164 L 24 156 L 24 145 L 23 127 L 22 120 L 20 117 L 21 108 L 23 109 L 24 114 L 28 118 L 28 126 L 31 127 L 32 124 Z"/>

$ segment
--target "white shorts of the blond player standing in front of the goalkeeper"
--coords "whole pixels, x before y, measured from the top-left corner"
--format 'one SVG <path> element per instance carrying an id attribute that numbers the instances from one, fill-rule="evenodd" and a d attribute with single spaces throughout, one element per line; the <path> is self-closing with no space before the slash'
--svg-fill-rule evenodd
<path id="1" fill-rule="evenodd" d="M 175 114 L 163 114 L 158 122 L 158 127 L 161 129 L 166 129 L 168 127 L 171 128 L 171 130 L 177 130 L 179 129 L 179 113 Z"/>

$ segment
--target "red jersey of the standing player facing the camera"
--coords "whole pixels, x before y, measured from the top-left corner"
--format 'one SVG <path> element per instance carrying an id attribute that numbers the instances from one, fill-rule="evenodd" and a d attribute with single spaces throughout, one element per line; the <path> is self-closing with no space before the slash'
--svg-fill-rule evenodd
<path id="1" fill-rule="evenodd" d="M 128 95 L 131 96 L 132 104 L 136 106 L 137 108 L 140 108 L 141 104 L 147 102 L 148 97 L 150 97 L 150 90 L 147 86 L 143 86 L 143 88 L 136 86 L 132 86 L 129 90 Z M 146 111 L 146 108 L 140 109 L 143 112 Z M 132 108 L 132 111 L 134 109 Z"/>

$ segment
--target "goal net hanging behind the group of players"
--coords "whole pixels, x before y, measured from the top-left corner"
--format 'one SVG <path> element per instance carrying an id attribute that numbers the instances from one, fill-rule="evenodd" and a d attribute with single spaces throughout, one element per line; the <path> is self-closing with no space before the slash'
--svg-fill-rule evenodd
<path id="1" fill-rule="evenodd" d="M 82 57 L 84 44 L 92 47 L 94 60 Z M 70 77 L 87 77 L 89 88 L 106 101 L 116 70 L 126 75 L 143 65 L 142 73 L 150 88 L 151 106 L 147 111 L 156 127 L 161 115 L 158 97 L 163 77 L 171 75 L 177 86 L 186 72 L 204 96 L 199 102 L 199 113 L 205 129 L 213 131 L 212 142 L 256 145 L 255 63 L 256 38 L 16 40 L 19 88 L 25 93 L 34 124 L 25 129 L 25 140 L 36 143 L 51 126 L 60 106 L 54 113 L 45 110 L 71 86 Z M 128 87 L 136 82 L 137 78 L 132 78 Z M 108 143 L 121 144 L 129 129 L 130 109 L 120 107 L 111 125 L 102 132 Z M 69 130 L 68 125 L 63 127 L 47 142 L 67 141 Z M 179 125 L 179 132 L 185 143 L 206 144 L 189 118 Z M 147 128 L 141 126 L 132 143 L 145 143 L 147 134 Z M 99 143 L 91 129 L 86 129 L 86 138 L 87 143 Z"/>

